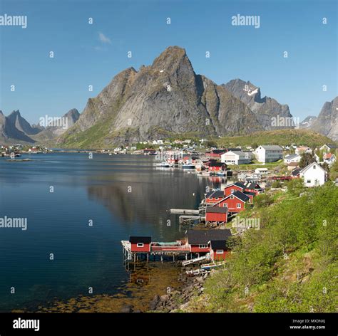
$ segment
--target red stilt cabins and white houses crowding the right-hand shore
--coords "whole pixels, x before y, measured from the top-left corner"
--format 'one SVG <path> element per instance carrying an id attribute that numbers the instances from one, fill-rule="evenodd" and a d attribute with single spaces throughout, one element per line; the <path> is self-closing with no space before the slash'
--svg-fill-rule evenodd
<path id="1" fill-rule="evenodd" d="M 313 154 L 318 150 L 323 151 L 322 160 L 331 166 L 335 155 L 330 153 L 336 149 L 335 145 L 323 145 L 320 149 L 314 149 Z M 247 151 L 242 148 L 212 148 L 202 154 L 158 152 L 155 149 L 143 151 L 145 155 L 156 157 L 157 169 L 184 169 L 187 174 L 208 178 L 210 182 L 215 179 L 224 182 L 220 188 L 206 188 L 198 209 L 168 209 L 170 214 L 178 215 L 180 228 L 184 232 L 180 240 L 163 242 L 153 241 L 152 236 L 130 236 L 128 240 L 121 241 L 127 271 L 133 267 L 135 269 L 138 263 L 150 261 L 171 261 L 182 268 L 180 281 L 183 282 L 183 292 L 175 290 L 171 294 L 168 288 L 165 295 L 155 295 L 150 309 L 177 309 L 178 306 L 173 303 L 177 293 L 187 300 L 193 295 L 194 288 L 202 293 L 208 275 L 217 268 L 227 267 L 227 258 L 232 254 L 232 239 L 241 236 L 247 229 L 260 229 L 259 219 L 243 221 L 240 213 L 252 208 L 255 198 L 264 194 L 265 189 L 270 193 L 285 191 L 283 182 L 293 179 L 303 179 L 306 187 L 317 187 L 327 181 L 328 174 L 317 162 L 317 154 L 306 167 L 299 167 L 302 155 L 312 154 L 312 149 L 295 146 L 295 154 L 285 154 L 289 150 L 290 147 L 262 145 Z M 254 159 L 255 168 L 250 169 Z M 245 164 L 248 168 L 242 169 Z"/>

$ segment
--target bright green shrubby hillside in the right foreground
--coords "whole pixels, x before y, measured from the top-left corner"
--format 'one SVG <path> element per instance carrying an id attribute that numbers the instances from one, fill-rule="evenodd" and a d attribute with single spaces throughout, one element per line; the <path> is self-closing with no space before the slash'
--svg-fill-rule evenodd
<path id="1" fill-rule="evenodd" d="M 338 188 L 326 184 L 299 197 L 302 184 L 289 183 L 287 193 L 257 196 L 240 214 L 260 219 L 260 229 L 235 240 L 225 268 L 208 278 L 189 311 L 337 310 Z"/>

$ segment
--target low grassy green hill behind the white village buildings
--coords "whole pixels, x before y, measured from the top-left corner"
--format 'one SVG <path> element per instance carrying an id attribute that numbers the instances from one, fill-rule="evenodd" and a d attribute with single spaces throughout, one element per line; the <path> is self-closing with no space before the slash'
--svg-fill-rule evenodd
<path id="1" fill-rule="evenodd" d="M 221 137 L 217 139 L 217 145 L 222 147 L 252 146 L 258 145 L 307 145 L 316 147 L 325 143 L 334 143 L 333 140 L 309 130 L 275 130 L 255 132 L 239 137 Z M 255 146 L 254 146 L 255 145 Z"/>

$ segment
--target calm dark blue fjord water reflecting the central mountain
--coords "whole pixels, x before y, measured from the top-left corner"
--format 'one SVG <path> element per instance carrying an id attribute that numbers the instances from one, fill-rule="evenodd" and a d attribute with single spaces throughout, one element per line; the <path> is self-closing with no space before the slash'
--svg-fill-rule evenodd
<path id="1" fill-rule="evenodd" d="M 167 210 L 196 208 L 211 185 L 181 169 L 156 169 L 143 155 L 26 157 L 32 161 L 0 157 L 0 217 L 28 221 L 26 231 L 0 228 L 0 311 L 86 295 L 88 287 L 117 293 L 128 281 L 121 240 L 182 238 L 178 216 Z"/>

